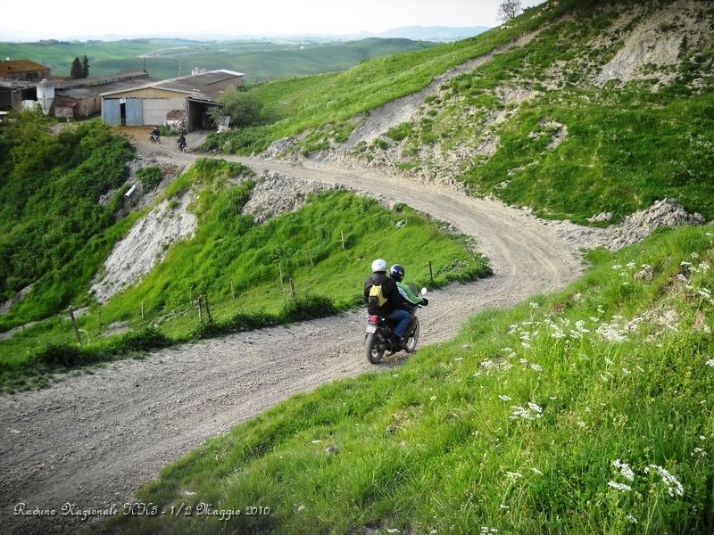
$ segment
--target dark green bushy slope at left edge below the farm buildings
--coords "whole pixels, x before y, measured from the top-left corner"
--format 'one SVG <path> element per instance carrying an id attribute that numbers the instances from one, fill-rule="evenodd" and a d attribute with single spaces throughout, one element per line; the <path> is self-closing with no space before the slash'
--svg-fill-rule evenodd
<path id="1" fill-rule="evenodd" d="M 0 130 L 0 301 L 29 284 L 35 292 L 0 327 L 57 312 L 87 284 L 111 250 L 101 236 L 112 234 L 134 158 L 99 122 L 54 136 L 49 119 L 16 119 Z"/>

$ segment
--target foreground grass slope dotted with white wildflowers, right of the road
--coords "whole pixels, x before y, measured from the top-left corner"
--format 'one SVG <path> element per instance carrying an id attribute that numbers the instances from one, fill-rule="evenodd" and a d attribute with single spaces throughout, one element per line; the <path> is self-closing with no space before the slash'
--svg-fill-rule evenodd
<path id="1" fill-rule="evenodd" d="M 707 532 L 714 227 L 591 257 L 563 292 L 478 315 L 397 370 L 295 396 L 208 440 L 138 493 L 169 514 L 120 527 Z M 202 503 L 240 514 L 221 521 Z M 172 517 L 182 505 L 193 513 Z"/>

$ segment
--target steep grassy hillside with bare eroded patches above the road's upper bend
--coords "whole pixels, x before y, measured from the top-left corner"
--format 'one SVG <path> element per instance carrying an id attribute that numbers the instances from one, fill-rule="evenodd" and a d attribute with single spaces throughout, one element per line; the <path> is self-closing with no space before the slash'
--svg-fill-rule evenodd
<path id="1" fill-rule="evenodd" d="M 353 156 L 456 178 L 549 218 L 607 211 L 617 221 L 665 196 L 714 218 L 714 8 L 703 2 L 546 3 L 452 45 L 272 81 L 253 88 L 265 124 L 208 146 L 250 153 L 302 134 L 296 151 L 339 150 L 362 113 L 526 35 L 526 45 L 445 81 L 417 119 Z M 650 56 L 638 52 L 643 41 Z M 599 81 L 610 70 L 620 73 Z"/>

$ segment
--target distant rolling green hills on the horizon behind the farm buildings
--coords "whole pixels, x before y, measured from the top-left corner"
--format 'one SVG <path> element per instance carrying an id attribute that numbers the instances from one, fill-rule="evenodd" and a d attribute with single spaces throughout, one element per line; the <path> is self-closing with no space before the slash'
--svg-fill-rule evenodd
<path id="1" fill-rule="evenodd" d="M 0 57 L 27 59 L 69 77 L 75 57 L 87 55 L 91 76 L 146 69 L 154 78 L 186 76 L 195 67 L 245 73 L 248 83 L 349 69 L 369 58 L 428 48 L 409 39 L 370 38 L 348 43 L 267 41 L 190 41 L 124 39 L 108 42 L 0 43 Z"/>

